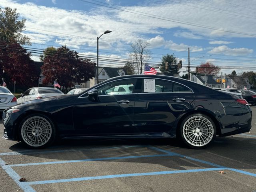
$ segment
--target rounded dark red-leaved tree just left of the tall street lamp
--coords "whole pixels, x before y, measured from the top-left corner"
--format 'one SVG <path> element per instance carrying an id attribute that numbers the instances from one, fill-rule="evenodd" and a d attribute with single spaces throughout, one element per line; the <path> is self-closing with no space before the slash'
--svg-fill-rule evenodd
<path id="1" fill-rule="evenodd" d="M 89 59 L 80 58 L 78 52 L 62 46 L 54 54 L 44 58 L 41 67 L 45 76 L 43 83 L 53 83 L 57 80 L 63 87 L 74 86 L 74 83 L 81 84 L 95 77 L 95 66 L 96 64 Z"/>

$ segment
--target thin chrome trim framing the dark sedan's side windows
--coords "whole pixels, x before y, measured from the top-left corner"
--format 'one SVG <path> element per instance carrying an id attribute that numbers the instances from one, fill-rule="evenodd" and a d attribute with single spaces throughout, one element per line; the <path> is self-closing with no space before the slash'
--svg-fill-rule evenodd
<path id="1" fill-rule="evenodd" d="M 125 78 L 125 79 L 144 79 L 144 78 L 145 78 L 145 77 L 131 77 L 131 78 Z M 182 83 L 179 83 L 179 82 L 175 82 L 175 81 L 173 81 L 173 80 L 168 80 L 168 79 L 163 79 L 163 78 L 154 78 L 154 77 L 147 77 L 146 79 L 160 79 L 160 80 L 166 80 L 166 81 L 178 83 L 178 84 L 180 84 L 180 85 L 183 85 L 183 86 L 189 88 L 188 86 L 186 86 L 186 85 L 184 85 L 184 84 L 182 84 Z M 113 80 L 113 81 L 110 81 L 110 82 L 115 82 L 115 81 L 118 81 L 118 80 L 124 80 L 124 79 L 117 79 L 117 80 Z M 109 83 L 109 82 L 106 82 L 106 83 L 104 83 L 104 84 L 102 84 L 102 85 L 105 85 L 105 84 L 107 84 L 107 83 Z M 100 86 L 102 86 L 102 85 L 100 85 Z M 98 88 L 98 87 L 95 87 L 94 89 L 97 89 L 97 88 Z M 160 92 L 160 93 L 158 93 L 158 94 L 194 94 L 194 91 L 193 91 L 191 88 L 189 88 L 189 89 L 190 89 L 192 92 Z M 90 90 L 92 90 L 92 89 L 90 89 Z M 88 97 L 88 96 L 84 96 L 84 95 L 87 94 L 90 90 L 86 91 L 84 94 L 82 94 L 82 95 L 79 96 L 78 98 L 86 98 L 86 97 Z M 156 92 L 149 92 L 149 93 L 131 93 L 131 94 L 156 94 Z M 130 95 L 130 94 L 125 94 L 125 95 Z M 110 96 L 110 95 L 99 95 L 99 96 Z M 112 96 L 114 96 L 114 95 L 112 95 Z"/>

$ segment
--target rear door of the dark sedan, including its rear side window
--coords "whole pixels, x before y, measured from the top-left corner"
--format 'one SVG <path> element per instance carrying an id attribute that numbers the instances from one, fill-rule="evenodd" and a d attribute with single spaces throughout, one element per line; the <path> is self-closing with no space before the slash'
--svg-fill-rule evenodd
<path id="1" fill-rule="evenodd" d="M 134 126 L 137 132 L 170 131 L 176 118 L 194 100 L 194 93 L 180 84 L 156 79 L 155 86 L 156 92 L 138 94 L 134 105 Z"/>

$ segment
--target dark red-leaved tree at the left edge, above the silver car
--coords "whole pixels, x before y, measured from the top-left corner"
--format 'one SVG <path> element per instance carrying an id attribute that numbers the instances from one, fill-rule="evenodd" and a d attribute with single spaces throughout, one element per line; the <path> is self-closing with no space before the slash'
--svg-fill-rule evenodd
<path id="1" fill-rule="evenodd" d="M 37 85 L 34 62 L 20 44 L 6 45 L 0 50 L 0 77 L 7 84 L 16 81 L 21 86 Z"/>

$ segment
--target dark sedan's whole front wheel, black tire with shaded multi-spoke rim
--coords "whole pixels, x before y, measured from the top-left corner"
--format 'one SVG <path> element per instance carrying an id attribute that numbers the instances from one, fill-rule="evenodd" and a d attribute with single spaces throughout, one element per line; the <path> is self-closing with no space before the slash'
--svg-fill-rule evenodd
<path id="1" fill-rule="evenodd" d="M 20 141 L 27 148 L 42 149 L 54 142 L 56 128 L 48 116 L 31 114 L 20 123 L 18 134 Z"/>

